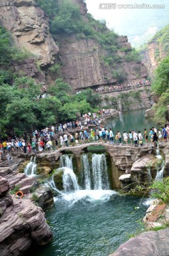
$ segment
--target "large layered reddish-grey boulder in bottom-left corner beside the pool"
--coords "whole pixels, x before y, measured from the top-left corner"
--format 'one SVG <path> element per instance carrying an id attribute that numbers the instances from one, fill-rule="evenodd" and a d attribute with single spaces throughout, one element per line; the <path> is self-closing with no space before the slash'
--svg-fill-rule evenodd
<path id="1" fill-rule="evenodd" d="M 0 255 L 23 255 L 32 242 L 45 245 L 52 239 L 43 210 L 28 199 L 11 197 L 9 182 L 0 176 Z"/>

